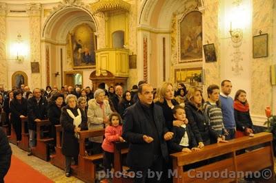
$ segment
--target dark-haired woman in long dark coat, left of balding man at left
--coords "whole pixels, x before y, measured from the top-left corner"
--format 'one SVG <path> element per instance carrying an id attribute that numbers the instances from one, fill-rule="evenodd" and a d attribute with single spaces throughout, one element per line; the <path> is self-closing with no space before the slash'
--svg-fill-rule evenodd
<path id="1" fill-rule="evenodd" d="M 27 99 L 22 97 L 21 90 L 15 90 L 10 102 L 10 121 L 17 134 L 17 142 L 21 140 L 21 118 L 27 116 L 27 106 Z"/>

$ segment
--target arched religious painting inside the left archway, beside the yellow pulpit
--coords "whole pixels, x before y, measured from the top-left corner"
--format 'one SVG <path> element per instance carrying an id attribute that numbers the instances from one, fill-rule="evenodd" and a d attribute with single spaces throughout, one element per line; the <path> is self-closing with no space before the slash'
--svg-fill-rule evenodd
<path id="1" fill-rule="evenodd" d="M 78 25 L 70 34 L 73 69 L 95 67 L 95 34 L 89 25 Z"/>

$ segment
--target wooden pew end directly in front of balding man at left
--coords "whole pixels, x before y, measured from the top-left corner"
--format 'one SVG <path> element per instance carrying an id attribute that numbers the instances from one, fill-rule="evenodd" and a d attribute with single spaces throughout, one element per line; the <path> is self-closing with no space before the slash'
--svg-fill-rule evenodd
<path id="1" fill-rule="evenodd" d="M 49 126 L 49 120 L 41 120 L 36 122 L 37 124 L 37 146 L 32 148 L 32 154 L 41 158 L 42 160 L 48 161 L 50 158 L 48 151 L 48 142 L 54 140 L 54 138 L 41 138 L 41 127 Z"/>

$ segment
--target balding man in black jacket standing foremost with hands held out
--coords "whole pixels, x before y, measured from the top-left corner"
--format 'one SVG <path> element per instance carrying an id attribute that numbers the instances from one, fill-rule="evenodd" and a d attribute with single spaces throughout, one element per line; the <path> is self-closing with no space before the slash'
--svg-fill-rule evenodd
<path id="1" fill-rule="evenodd" d="M 165 174 L 164 161 L 168 160 L 165 140 L 173 133 L 165 126 L 162 109 L 153 101 L 153 88 L 143 84 L 138 89 L 139 101 L 126 110 L 123 136 L 130 143 L 127 163 L 135 172 L 135 182 L 160 182 Z M 166 174 L 165 174 L 166 175 Z"/>

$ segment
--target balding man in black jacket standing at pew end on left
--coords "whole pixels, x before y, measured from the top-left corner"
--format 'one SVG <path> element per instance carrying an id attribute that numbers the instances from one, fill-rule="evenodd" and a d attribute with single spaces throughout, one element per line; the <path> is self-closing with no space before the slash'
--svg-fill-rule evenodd
<path id="1" fill-rule="evenodd" d="M 32 147 L 35 146 L 34 131 L 36 130 L 36 122 L 47 118 L 48 101 L 41 96 L 39 88 L 33 90 L 34 96 L 28 100 L 28 129 L 29 129 L 29 152 L 31 155 Z M 40 136 L 40 134 L 37 134 Z"/>

